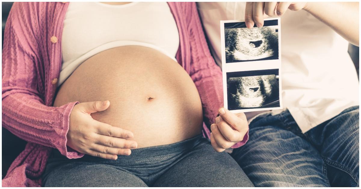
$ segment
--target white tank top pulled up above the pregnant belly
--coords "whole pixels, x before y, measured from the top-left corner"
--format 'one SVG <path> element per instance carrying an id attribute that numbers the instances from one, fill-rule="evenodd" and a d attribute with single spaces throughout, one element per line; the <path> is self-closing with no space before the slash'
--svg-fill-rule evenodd
<path id="1" fill-rule="evenodd" d="M 151 47 L 177 61 L 179 33 L 165 2 L 123 5 L 70 2 L 61 43 L 62 66 L 58 87 L 83 61 L 114 47 Z"/>

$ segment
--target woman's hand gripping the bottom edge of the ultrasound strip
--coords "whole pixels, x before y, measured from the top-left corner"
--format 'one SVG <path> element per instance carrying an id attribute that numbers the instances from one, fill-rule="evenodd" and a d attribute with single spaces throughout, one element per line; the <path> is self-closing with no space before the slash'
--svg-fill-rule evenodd
<path id="1" fill-rule="evenodd" d="M 210 126 L 210 143 L 217 152 L 225 151 L 243 140 L 248 131 L 248 122 L 244 113 L 232 113 L 226 108 L 218 109 L 216 123 Z"/>

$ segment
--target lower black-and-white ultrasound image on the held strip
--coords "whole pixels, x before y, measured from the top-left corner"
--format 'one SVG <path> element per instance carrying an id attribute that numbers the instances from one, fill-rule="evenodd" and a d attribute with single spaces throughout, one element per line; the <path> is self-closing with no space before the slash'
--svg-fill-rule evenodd
<path id="1" fill-rule="evenodd" d="M 277 74 L 266 73 L 274 70 L 277 70 Z M 228 109 L 280 107 L 278 69 L 274 70 L 227 73 Z M 252 72 L 266 74 L 249 76 Z"/>

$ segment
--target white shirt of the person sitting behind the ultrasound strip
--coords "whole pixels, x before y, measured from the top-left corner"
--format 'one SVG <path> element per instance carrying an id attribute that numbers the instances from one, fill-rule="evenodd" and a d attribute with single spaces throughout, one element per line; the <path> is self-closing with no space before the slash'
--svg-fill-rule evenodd
<path id="1" fill-rule="evenodd" d="M 222 66 L 219 21 L 244 20 L 245 2 L 197 6 L 213 56 Z M 281 29 L 283 107 L 303 133 L 359 104 L 357 73 L 345 39 L 304 10 L 287 10 Z"/>

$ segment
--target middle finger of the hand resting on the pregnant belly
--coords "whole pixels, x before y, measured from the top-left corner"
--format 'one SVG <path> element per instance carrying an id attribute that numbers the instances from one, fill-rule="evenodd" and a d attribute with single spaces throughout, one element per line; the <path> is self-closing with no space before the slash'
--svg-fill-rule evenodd
<path id="1" fill-rule="evenodd" d="M 115 147 L 115 148 L 129 148 L 136 149 L 138 143 L 133 140 L 126 140 L 124 138 L 109 137 L 105 135 L 98 134 L 96 144 L 103 146 Z"/>

